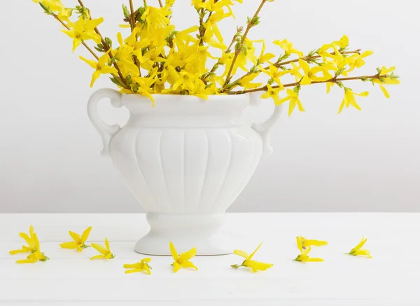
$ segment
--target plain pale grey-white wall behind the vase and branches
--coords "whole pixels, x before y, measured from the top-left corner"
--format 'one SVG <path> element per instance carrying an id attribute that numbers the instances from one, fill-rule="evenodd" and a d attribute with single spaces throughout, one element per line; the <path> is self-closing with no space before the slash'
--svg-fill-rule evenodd
<path id="1" fill-rule="evenodd" d="M 1 2 L 0 212 L 143 211 L 111 160 L 99 156 L 101 140 L 85 111 L 93 90 L 113 84 L 101 78 L 89 88 L 92 71 L 78 59 L 87 53 L 71 54 L 71 39 L 32 1 Z M 244 2 L 221 27 L 227 41 L 260 1 Z M 116 40 L 121 1 L 85 5 L 104 16 L 100 28 Z M 372 92 L 359 100 L 363 111 L 339 116 L 341 90 L 327 96 L 324 85 L 304 88 L 307 112 L 283 116 L 274 154 L 261 160 L 231 211 L 420 211 L 418 12 L 414 0 L 275 0 L 263 8 L 251 39 L 287 38 L 307 52 L 346 34 L 354 49 L 375 51 L 360 73 L 395 65 L 402 83 L 389 88 L 391 99 L 352 83 Z M 173 20 L 179 28 L 197 22 L 190 1 L 176 1 Z M 272 107 L 265 100 L 248 117 L 262 120 Z M 110 123 L 128 116 L 108 105 L 102 113 Z"/>

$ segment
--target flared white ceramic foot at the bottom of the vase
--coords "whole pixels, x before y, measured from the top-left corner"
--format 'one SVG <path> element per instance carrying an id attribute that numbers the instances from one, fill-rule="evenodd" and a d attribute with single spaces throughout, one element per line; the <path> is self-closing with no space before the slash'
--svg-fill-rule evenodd
<path id="1" fill-rule="evenodd" d="M 179 253 L 195 247 L 197 256 L 231 254 L 232 242 L 221 230 L 224 216 L 148 213 L 151 231 L 139 239 L 134 250 L 144 255 L 171 256 L 169 242 L 172 242 Z"/>

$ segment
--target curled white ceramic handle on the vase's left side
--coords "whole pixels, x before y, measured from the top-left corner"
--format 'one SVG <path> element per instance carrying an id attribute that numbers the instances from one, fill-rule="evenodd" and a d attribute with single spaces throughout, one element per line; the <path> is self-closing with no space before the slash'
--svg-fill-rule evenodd
<path id="1" fill-rule="evenodd" d="M 108 156 L 109 142 L 111 141 L 111 138 L 117 134 L 121 127 L 120 125 L 107 125 L 101 120 L 101 118 L 99 118 L 98 104 L 103 98 L 109 98 L 111 105 L 116 108 L 120 108 L 123 104 L 121 103 L 120 92 L 110 88 L 103 88 L 95 91 L 90 96 L 89 102 L 87 102 L 87 116 L 89 116 L 90 122 L 101 135 L 102 142 L 104 144 L 101 154 Z"/>

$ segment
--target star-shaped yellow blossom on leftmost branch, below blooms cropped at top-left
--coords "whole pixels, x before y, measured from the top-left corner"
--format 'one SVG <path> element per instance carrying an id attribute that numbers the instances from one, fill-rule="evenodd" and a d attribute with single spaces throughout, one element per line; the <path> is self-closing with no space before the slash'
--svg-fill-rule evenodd
<path id="1" fill-rule="evenodd" d="M 69 23 L 70 29 L 62 29 L 62 32 L 73 39 L 73 52 L 83 41 L 92 39 L 95 43 L 101 42 L 101 36 L 94 32 L 94 28 L 104 22 L 104 18 L 91 20 L 79 19 L 74 23 Z"/>

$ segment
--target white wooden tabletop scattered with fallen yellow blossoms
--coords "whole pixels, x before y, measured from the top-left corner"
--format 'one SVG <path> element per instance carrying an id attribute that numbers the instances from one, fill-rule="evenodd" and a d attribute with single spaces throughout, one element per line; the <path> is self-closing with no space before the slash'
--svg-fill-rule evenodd
<path id="1" fill-rule="evenodd" d="M 420 305 L 420 214 L 230 214 L 232 249 L 274 263 L 253 274 L 233 270 L 235 255 L 194 258 L 199 270 L 174 274 L 172 259 L 153 257 L 153 274 L 125 274 L 139 261 L 134 243 L 148 230 L 142 214 L 0 214 L 0 305 Z M 33 224 L 46 263 L 15 264 L 18 232 Z M 96 251 L 60 249 L 69 230 L 93 226 L 90 242 L 108 237 L 116 258 L 90 261 Z M 297 263 L 295 237 L 325 239 L 313 248 L 323 263 Z M 346 256 L 362 235 L 373 259 Z M 179 250 L 183 251 L 183 250 Z"/>

